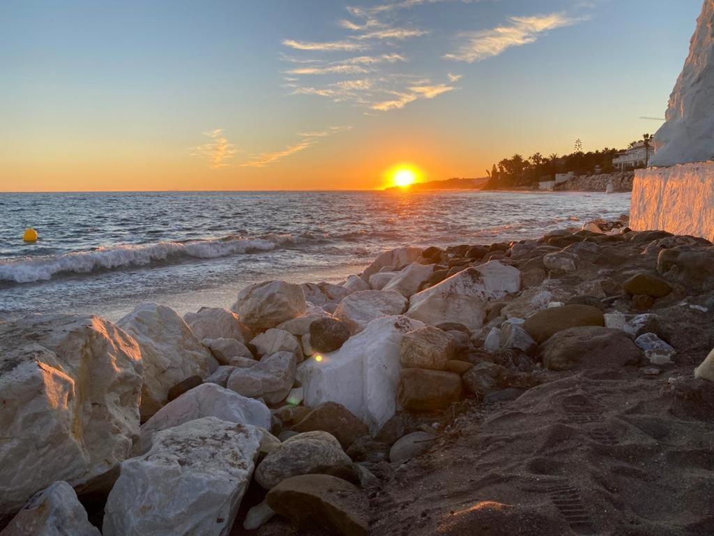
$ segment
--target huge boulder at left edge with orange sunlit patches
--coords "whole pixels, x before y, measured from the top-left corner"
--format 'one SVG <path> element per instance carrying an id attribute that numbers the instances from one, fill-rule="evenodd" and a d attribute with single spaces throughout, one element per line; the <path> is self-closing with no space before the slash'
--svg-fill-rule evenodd
<path id="1" fill-rule="evenodd" d="M 94 316 L 0 323 L 0 517 L 56 480 L 111 485 L 139 436 L 141 353 Z"/>

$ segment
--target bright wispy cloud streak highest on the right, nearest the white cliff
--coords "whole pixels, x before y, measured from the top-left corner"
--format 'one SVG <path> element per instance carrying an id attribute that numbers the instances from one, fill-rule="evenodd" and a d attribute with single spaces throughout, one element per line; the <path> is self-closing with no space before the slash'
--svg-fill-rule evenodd
<path id="1" fill-rule="evenodd" d="M 496 28 L 461 34 L 465 42 L 456 52 L 446 54 L 444 58 L 457 61 L 481 61 L 498 56 L 511 46 L 535 43 L 538 36 L 548 30 L 572 26 L 585 18 L 571 18 L 563 13 L 549 15 L 513 16 L 509 24 Z"/>

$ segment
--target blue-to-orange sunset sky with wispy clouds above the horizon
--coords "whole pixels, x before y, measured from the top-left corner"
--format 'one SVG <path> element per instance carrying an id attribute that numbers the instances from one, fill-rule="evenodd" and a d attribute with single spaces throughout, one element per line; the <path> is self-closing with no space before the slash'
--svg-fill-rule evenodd
<path id="1" fill-rule="evenodd" d="M 0 191 L 373 189 L 660 122 L 702 0 L 0 2 Z"/>

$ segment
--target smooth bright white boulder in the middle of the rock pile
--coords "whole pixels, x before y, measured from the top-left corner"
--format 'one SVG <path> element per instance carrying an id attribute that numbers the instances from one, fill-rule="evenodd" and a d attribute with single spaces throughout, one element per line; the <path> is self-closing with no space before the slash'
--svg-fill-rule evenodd
<path id="1" fill-rule="evenodd" d="M 376 432 L 396 410 L 401 338 L 420 327 L 422 322 L 402 316 L 374 319 L 321 361 L 303 362 L 297 377 L 305 405 L 338 402 Z"/>

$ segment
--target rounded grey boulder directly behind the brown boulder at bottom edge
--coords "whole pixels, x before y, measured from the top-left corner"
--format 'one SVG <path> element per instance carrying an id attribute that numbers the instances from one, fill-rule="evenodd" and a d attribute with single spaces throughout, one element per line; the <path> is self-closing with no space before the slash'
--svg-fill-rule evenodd
<path id="1" fill-rule="evenodd" d="M 328 432 L 303 432 L 282 445 L 258 464 L 256 482 L 265 490 L 298 475 L 352 475 L 352 460 L 338 440 Z"/>

